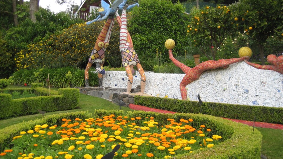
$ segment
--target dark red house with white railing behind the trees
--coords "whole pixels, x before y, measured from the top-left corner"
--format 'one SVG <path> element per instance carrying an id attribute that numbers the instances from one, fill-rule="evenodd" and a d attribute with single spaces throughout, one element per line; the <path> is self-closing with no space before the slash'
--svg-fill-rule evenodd
<path id="1" fill-rule="evenodd" d="M 72 5 L 73 16 L 77 16 L 79 19 L 87 21 L 91 16 L 92 11 L 95 12 L 95 9 L 101 7 L 101 0 L 98 0 L 94 3 L 88 3 L 86 0 L 82 0 L 81 5 Z"/>

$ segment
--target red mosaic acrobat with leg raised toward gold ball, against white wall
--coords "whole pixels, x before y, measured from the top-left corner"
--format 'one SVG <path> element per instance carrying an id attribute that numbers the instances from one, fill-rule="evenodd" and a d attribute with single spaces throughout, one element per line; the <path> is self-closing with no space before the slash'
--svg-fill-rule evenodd
<path id="1" fill-rule="evenodd" d="M 176 60 L 173 57 L 172 49 L 169 49 L 169 58 L 177 67 L 179 67 L 185 73 L 185 76 L 180 83 L 180 91 L 181 91 L 182 100 L 187 100 L 186 86 L 190 84 L 191 82 L 199 79 L 201 76 L 201 73 L 203 73 L 204 71 L 216 69 L 216 68 L 225 69 L 229 67 L 230 64 L 234 64 L 236 62 L 250 59 L 249 56 L 245 56 L 241 58 L 220 59 L 218 61 L 208 60 L 208 61 L 204 61 L 198 64 L 197 66 L 191 68 L 191 67 L 186 66 L 185 64 L 182 64 L 180 61 Z"/>

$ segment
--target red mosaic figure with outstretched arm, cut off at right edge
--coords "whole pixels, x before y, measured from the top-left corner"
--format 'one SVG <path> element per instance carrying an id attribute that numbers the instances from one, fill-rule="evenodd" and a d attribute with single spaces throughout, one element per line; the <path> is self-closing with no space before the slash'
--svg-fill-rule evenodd
<path id="1" fill-rule="evenodd" d="M 250 63 L 247 60 L 244 60 L 248 65 L 253 66 L 258 69 L 262 70 L 273 70 L 276 72 L 279 72 L 283 74 L 283 55 L 276 56 L 276 55 L 268 55 L 267 56 L 267 62 L 269 62 L 271 65 L 260 65 L 260 64 L 254 64 Z"/>

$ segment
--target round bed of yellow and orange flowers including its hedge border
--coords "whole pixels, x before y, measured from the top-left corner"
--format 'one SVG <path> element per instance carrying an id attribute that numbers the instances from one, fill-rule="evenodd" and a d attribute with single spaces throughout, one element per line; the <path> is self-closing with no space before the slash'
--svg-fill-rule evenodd
<path id="1" fill-rule="evenodd" d="M 64 118 L 63 123 L 58 120 L 60 118 Z M 24 125 L 28 126 L 8 127 L 10 132 L 17 132 L 15 136 L 6 135 L 2 138 L 6 129 L 0 130 L 0 144 L 4 144 L 7 151 L 3 152 L 4 146 L 0 147 L 2 158 L 9 158 L 12 154 L 20 158 L 29 154 L 34 158 L 41 155 L 46 158 L 101 158 L 116 144 L 121 144 L 121 148 L 115 158 L 260 156 L 261 134 L 257 130 L 250 134 L 246 132 L 250 127 L 205 115 L 135 111 L 125 116 L 123 111 L 96 110 L 95 118 L 90 118 L 85 112 L 67 113 L 46 116 Z M 238 127 L 241 127 L 241 131 L 237 131 Z M 222 138 L 213 137 L 213 134 Z M 11 138 L 14 138 L 13 148 L 7 144 Z M 223 142 L 217 141 L 217 138 Z"/>

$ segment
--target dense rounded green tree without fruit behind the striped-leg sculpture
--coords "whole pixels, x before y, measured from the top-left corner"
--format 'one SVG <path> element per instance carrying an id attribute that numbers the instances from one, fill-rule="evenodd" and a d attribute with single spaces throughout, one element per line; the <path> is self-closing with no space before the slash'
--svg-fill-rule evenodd
<path id="1" fill-rule="evenodd" d="M 174 52 L 182 52 L 188 45 L 185 39 L 188 16 L 184 14 L 182 4 L 173 4 L 167 0 L 140 0 L 140 7 L 134 7 L 128 22 L 135 51 L 146 56 L 154 54 L 158 48 L 167 52 L 164 43 L 167 39 L 176 42 Z"/>

